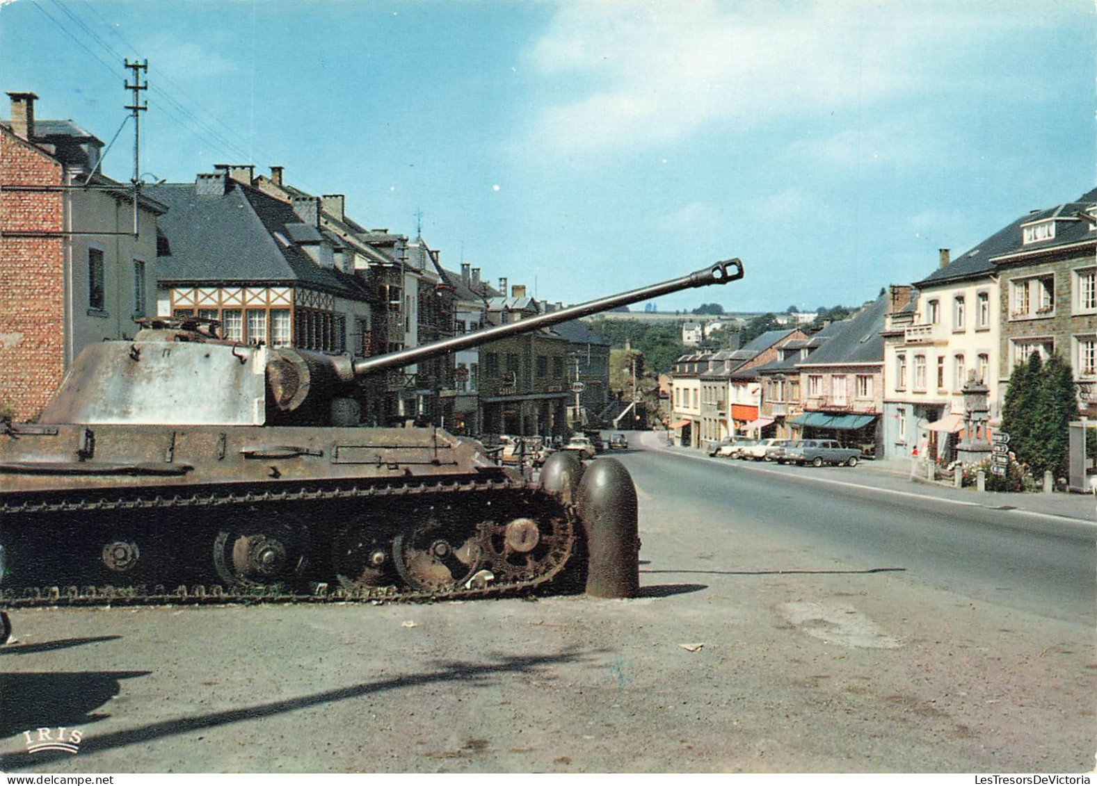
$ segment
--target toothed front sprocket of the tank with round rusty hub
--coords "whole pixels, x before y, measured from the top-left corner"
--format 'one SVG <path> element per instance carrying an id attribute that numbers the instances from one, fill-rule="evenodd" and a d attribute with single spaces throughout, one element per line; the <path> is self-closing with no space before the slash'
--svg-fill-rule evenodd
<path id="1" fill-rule="evenodd" d="M 575 529 L 566 516 L 519 516 L 480 524 L 488 570 L 499 583 L 552 578 L 572 555 Z"/>

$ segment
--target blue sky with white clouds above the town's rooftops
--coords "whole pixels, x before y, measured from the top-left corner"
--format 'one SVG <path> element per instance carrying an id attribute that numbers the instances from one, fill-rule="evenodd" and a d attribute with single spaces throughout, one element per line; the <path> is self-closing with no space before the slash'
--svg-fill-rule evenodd
<path id="1" fill-rule="evenodd" d="M 0 0 L 0 88 L 146 180 L 285 168 L 546 300 L 857 305 L 1094 187 L 1093 0 Z M 0 105 L 0 116 L 8 116 Z M 643 306 L 633 306 L 642 310 Z"/>

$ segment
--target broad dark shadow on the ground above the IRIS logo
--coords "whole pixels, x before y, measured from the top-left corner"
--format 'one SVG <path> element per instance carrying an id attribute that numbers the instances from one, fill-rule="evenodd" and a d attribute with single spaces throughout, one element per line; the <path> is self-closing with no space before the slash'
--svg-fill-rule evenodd
<path id="1" fill-rule="evenodd" d="M 121 692 L 121 681 L 149 671 L 23 672 L 0 674 L 0 739 L 38 727 L 92 724 L 93 710 Z M 65 754 L 68 755 L 68 754 Z M 3 764 L 9 764 L 4 756 Z M 37 754 L 35 761 L 42 759 Z M 4 767 L 7 768 L 7 767 Z"/>

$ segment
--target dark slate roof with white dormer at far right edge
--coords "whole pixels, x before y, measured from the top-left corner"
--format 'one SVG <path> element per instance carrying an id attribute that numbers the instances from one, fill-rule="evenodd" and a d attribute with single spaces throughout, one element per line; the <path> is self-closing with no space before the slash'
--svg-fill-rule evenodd
<path id="1" fill-rule="evenodd" d="M 1097 189 L 1086 192 L 1075 202 L 1067 202 L 1044 210 L 1033 210 L 999 229 L 970 251 L 957 257 L 945 267 L 938 267 L 923 281 L 915 283 L 916 287 L 932 286 L 957 278 L 984 275 L 996 270 L 994 259 L 1019 251 L 1039 251 L 1058 246 L 1070 246 L 1086 239 L 1094 239 L 1089 221 L 1077 220 L 1075 214 L 1079 210 L 1092 210 L 1097 205 Z M 1055 221 L 1055 237 L 1034 243 L 1022 243 L 1021 227 L 1026 224 L 1049 218 Z"/>

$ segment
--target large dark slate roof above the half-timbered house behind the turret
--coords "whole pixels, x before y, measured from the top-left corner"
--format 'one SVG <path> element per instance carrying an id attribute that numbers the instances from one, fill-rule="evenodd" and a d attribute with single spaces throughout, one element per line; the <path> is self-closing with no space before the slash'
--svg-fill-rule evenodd
<path id="1" fill-rule="evenodd" d="M 169 248 L 169 255 L 157 260 L 162 283 L 305 284 L 357 300 L 371 298 L 358 276 L 321 267 L 297 246 L 275 238 L 279 232 L 290 241 L 303 226 L 280 200 L 235 181 L 223 195 L 199 196 L 194 183 L 145 191 L 169 208 L 159 219 Z"/>

